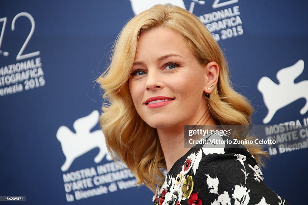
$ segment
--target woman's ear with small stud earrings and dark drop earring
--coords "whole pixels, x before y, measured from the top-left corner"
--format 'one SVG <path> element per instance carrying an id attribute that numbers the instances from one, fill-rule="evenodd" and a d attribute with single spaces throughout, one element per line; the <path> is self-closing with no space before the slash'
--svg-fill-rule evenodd
<path id="1" fill-rule="evenodd" d="M 204 92 L 210 94 L 218 82 L 219 66 L 215 61 L 211 61 L 206 65 L 205 70 L 207 80 L 205 81 Z"/>

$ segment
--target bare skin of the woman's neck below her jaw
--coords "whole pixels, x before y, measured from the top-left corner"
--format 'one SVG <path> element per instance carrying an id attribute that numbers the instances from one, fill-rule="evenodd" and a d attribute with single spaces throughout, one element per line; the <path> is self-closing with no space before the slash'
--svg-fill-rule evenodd
<path id="1" fill-rule="evenodd" d="M 215 121 L 209 110 L 201 115 L 198 120 L 191 120 L 185 124 L 215 124 Z M 190 148 L 184 148 L 184 125 L 181 124 L 172 128 L 157 128 L 157 134 L 160 140 L 161 148 L 164 152 L 164 158 L 167 165 L 167 171 L 170 171 L 173 164 L 184 156 Z"/>

